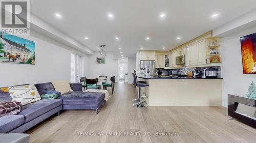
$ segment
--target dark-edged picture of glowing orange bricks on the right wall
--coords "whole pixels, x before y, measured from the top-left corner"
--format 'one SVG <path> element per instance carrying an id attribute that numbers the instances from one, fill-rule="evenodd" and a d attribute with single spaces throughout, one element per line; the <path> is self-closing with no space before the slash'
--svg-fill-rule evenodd
<path id="1" fill-rule="evenodd" d="M 244 74 L 256 74 L 256 33 L 240 38 L 243 72 Z"/>

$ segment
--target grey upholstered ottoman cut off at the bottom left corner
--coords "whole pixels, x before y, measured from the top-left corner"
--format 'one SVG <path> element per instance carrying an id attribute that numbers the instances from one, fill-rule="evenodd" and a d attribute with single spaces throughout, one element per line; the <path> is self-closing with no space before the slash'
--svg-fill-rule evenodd
<path id="1" fill-rule="evenodd" d="M 30 135 L 25 133 L 0 133 L 0 143 L 29 143 Z"/>

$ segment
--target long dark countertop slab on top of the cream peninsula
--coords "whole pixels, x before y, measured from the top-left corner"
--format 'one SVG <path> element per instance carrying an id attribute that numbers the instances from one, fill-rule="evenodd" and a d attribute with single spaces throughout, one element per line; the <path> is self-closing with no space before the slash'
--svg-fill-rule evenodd
<path id="1" fill-rule="evenodd" d="M 188 77 L 188 76 L 138 76 L 138 78 L 143 78 L 143 79 L 223 79 L 220 77 L 217 78 L 193 78 L 193 77 Z"/>

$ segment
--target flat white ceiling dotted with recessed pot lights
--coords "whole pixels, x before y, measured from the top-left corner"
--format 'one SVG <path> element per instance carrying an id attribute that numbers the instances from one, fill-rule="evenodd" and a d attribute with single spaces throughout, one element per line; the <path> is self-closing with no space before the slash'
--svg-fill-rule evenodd
<path id="1" fill-rule="evenodd" d="M 255 0 L 33 0 L 30 5 L 31 13 L 92 50 L 107 45 L 115 59 L 120 58 L 120 51 L 134 57 L 140 47 L 173 49 L 256 9 Z M 109 19 L 109 13 L 113 19 Z M 164 19 L 159 18 L 160 13 L 166 14 Z M 212 18 L 215 13 L 219 15 Z M 147 36 L 150 41 L 145 40 Z"/>

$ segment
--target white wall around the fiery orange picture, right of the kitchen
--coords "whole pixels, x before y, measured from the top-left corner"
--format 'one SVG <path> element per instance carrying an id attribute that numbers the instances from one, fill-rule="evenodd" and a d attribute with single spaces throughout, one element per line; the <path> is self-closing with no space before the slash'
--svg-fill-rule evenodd
<path id="1" fill-rule="evenodd" d="M 243 74 L 240 37 L 255 33 L 256 26 L 221 39 L 222 105 L 227 107 L 227 94 L 245 95 L 256 74 Z"/>

